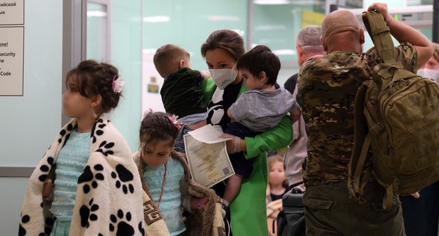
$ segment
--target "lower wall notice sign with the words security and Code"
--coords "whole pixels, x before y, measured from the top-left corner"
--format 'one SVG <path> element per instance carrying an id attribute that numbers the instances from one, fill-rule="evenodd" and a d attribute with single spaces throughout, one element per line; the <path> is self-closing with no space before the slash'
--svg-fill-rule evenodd
<path id="1" fill-rule="evenodd" d="M 23 96 L 25 27 L 0 27 L 0 96 Z"/>

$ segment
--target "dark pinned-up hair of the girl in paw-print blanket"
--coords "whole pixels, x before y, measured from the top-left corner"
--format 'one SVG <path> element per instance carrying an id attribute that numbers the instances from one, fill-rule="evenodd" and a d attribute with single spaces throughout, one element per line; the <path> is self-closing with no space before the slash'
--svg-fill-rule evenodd
<path id="1" fill-rule="evenodd" d="M 99 112 L 110 112 L 119 103 L 120 92 L 113 91 L 113 79 L 119 77 L 117 68 L 108 63 L 84 60 L 70 70 L 65 79 L 65 86 L 78 91 L 81 96 L 91 98 L 100 95 L 102 100 Z"/>

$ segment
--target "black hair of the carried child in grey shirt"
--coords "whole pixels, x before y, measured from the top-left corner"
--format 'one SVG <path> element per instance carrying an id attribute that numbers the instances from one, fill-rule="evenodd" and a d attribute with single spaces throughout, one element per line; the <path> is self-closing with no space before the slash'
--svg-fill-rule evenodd
<path id="1" fill-rule="evenodd" d="M 254 77 L 259 77 L 261 72 L 265 72 L 268 78 L 265 84 L 274 85 L 281 70 L 281 61 L 269 47 L 258 45 L 239 58 L 236 69 L 248 70 Z"/>

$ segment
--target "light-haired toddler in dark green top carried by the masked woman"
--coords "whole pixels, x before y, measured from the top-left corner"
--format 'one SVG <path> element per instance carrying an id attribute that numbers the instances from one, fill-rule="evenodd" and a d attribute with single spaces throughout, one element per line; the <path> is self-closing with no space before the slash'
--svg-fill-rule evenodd
<path id="1" fill-rule="evenodd" d="M 201 82 L 210 78 L 210 74 L 191 70 L 190 57 L 184 48 L 166 44 L 157 49 L 153 58 L 155 69 L 165 79 L 160 89 L 165 111 L 176 115 L 173 119 L 184 125 L 175 143 L 178 152 L 184 152 L 183 136 L 205 126 L 208 117 Z"/>

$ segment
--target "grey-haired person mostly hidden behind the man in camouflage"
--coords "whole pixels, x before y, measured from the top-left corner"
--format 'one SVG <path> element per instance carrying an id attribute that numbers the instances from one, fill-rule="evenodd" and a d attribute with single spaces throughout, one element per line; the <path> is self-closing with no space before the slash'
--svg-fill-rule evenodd
<path id="1" fill-rule="evenodd" d="M 296 39 L 295 48 L 298 51 L 298 64 L 303 65 L 306 60 L 325 55 L 320 37 L 322 36 L 322 27 L 309 25 L 300 29 Z M 284 84 L 284 88 L 290 91 L 295 98 L 297 90 L 295 84 L 298 74 L 293 74 Z M 303 188 L 303 172 L 307 157 L 307 140 L 308 136 L 305 130 L 305 121 L 300 115 L 297 122 L 293 124 L 293 140 L 290 143 L 290 150 L 284 157 L 286 176 L 291 188 L 300 185 Z"/>

